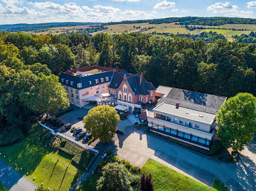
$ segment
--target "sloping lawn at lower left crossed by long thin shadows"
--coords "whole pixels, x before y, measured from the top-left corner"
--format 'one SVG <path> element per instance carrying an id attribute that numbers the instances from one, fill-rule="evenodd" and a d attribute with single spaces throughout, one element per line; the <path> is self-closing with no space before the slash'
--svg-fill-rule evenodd
<path id="1" fill-rule="evenodd" d="M 84 172 L 71 164 L 72 156 L 64 152 L 53 152 L 31 139 L 0 150 L 2 152 L 0 158 L 7 164 L 32 181 L 35 177 L 36 180 L 33 182 L 38 186 L 43 182 L 43 187 L 51 190 L 67 190 Z M 29 172 L 28 176 L 27 172 Z"/>

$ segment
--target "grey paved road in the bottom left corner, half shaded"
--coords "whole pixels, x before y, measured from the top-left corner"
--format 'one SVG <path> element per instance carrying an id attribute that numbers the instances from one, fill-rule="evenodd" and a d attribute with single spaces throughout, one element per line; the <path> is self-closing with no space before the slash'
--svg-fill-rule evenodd
<path id="1" fill-rule="evenodd" d="M 36 184 L 23 177 L 19 172 L 0 160 L 0 182 L 11 191 L 32 191 Z"/>

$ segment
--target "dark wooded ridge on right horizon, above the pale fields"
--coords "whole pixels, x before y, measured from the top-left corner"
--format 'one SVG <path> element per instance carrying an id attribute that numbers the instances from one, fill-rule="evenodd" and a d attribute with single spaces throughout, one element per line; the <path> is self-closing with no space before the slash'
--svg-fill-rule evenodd
<path id="1" fill-rule="evenodd" d="M 237 18 L 237 17 L 168 17 L 163 19 L 144 19 L 135 21 L 121 21 L 110 22 L 108 25 L 116 25 L 122 23 L 149 23 L 149 24 L 161 24 L 161 23 L 174 23 L 177 22 L 180 25 L 225 25 L 225 24 L 256 24 L 256 19 L 249 18 Z"/>

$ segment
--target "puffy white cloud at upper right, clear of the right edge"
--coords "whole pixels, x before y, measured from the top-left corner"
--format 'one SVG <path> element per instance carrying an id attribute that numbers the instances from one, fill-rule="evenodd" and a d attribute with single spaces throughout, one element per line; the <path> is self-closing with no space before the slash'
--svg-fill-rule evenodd
<path id="1" fill-rule="evenodd" d="M 214 5 L 210 5 L 207 7 L 208 11 L 213 11 L 214 13 L 225 13 L 225 12 L 233 12 L 237 11 L 237 5 L 231 5 L 231 3 L 215 3 Z"/>

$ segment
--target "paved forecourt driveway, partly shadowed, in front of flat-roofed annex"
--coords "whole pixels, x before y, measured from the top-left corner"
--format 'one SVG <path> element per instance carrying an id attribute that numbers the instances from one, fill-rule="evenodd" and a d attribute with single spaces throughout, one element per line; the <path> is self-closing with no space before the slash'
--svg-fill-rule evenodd
<path id="1" fill-rule="evenodd" d="M 119 122 L 117 129 L 125 134 L 109 149 L 136 166 L 143 166 L 151 158 L 208 186 L 212 186 L 216 177 L 222 182 L 227 181 L 233 190 L 243 190 L 238 182 L 245 190 L 256 190 L 256 152 L 253 146 L 242 152 L 239 162 L 226 163 L 216 156 L 206 156 L 145 133 L 145 128 L 135 128 L 128 120 Z"/>

